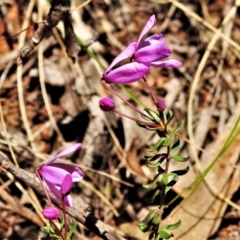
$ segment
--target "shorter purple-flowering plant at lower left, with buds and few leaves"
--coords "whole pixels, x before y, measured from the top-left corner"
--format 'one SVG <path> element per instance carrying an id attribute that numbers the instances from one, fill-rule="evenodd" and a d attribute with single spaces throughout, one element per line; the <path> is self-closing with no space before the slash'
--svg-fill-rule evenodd
<path id="1" fill-rule="evenodd" d="M 73 182 L 78 182 L 83 178 L 83 172 L 78 167 L 71 164 L 56 163 L 55 161 L 60 157 L 81 149 L 81 147 L 81 143 L 73 144 L 36 169 L 36 175 L 40 179 L 49 203 L 49 206 L 42 211 L 44 218 L 51 223 L 50 227 L 45 227 L 45 231 L 49 234 L 49 237 L 55 237 L 55 239 L 70 239 L 76 228 L 75 221 L 72 221 L 68 232 L 65 207 L 72 206 L 70 192 Z M 44 181 L 43 183 L 42 180 Z M 52 205 L 45 186 L 62 202 L 63 217 L 61 217 L 59 226 L 53 220 L 60 219 L 60 211 Z"/>

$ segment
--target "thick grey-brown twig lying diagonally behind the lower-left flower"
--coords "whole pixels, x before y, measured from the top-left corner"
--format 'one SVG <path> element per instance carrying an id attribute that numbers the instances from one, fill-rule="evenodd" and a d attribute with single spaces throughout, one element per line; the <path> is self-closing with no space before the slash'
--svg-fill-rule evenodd
<path id="1" fill-rule="evenodd" d="M 0 152 L 0 166 L 11 172 L 16 178 L 22 180 L 28 187 L 34 189 L 40 195 L 45 196 L 44 190 L 42 189 L 38 178 L 32 173 L 14 166 L 2 152 Z M 61 202 L 51 192 L 48 192 L 48 194 L 51 201 L 59 208 L 62 208 Z M 66 208 L 66 212 L 69 216 L 73 217 L 76 221 L 83 224 L 86 228 L 90 229 L 102 239 L 126 240 L 126 238 L 113 233 L 105 223 L 91 215 L 89 206 L 81 206 L 73 203 L 73 207 Z"/>

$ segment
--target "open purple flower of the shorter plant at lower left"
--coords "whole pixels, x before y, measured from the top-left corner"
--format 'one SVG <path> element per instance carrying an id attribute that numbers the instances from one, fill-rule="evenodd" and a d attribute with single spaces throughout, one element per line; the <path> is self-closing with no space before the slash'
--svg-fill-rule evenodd
<path id="1" fill-rule="evenodd" d="M 66 187 L 62 186 L 63 184 L 66 184 L 66 175 L 71 176 L 72 182 L 78 182 L 83 178 L 83 173 L 78 167 L 75 167 L 74 165 L 55 163 L 55 161 L 60 157 L 79 150 L 81 147 L 81 143 L 76 143 L 57 154 L 55 157 L 41 165 L 39 168 L 39 173 L 42 179 L 44 180 L 50 191 L 59 200 L 62 200 L 61 188 Z M 67 184 L 69 184 L 69 181 L 67 182 Z M 72 198 L 70 195 L 64 197 L 64 204 L 68 207 L 72 206 Z"/>

